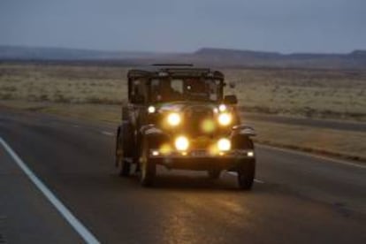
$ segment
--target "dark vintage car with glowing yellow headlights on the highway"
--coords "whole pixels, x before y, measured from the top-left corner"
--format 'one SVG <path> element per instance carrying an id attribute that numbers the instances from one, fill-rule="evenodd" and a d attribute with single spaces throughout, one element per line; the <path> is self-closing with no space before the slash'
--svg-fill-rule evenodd
<path id="1" fill-rule="evenodd" d="M 237 172 L 240 189 L 255 177 L 252 127 L 240 123 L 235 95 L 224 95 L 222 72 L 193 65 L 151 65 L 128 72 L 128 103 L 116 140 L 121 176 L 132 165 L 149 187 L 156 165 L 206 171 L 218 179 Z"/>

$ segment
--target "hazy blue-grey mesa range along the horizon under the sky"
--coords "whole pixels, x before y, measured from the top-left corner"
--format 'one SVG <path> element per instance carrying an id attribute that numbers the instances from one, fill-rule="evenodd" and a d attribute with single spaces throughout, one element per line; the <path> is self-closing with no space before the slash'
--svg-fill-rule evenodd
<path id="1" fill-rule="evenodd" d="M 117 65 L 192 63 L 217 67 L 280 67 L 316 69 L 366 69 L 366 50 L 348 54 L 293 53 L 202 48 L 193 53 L 80 50 L 27 46 L 1 46 L 0 61 L 96 62 Z"/>

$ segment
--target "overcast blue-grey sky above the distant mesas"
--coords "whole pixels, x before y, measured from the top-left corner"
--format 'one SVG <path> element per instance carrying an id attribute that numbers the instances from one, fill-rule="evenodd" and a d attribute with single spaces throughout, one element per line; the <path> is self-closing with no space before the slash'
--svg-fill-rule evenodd
<path id="1" fill-rule="evenodd" d="M 97 50 L 366 50 L 365 0 L 0 0 L 0 44 Z"/>

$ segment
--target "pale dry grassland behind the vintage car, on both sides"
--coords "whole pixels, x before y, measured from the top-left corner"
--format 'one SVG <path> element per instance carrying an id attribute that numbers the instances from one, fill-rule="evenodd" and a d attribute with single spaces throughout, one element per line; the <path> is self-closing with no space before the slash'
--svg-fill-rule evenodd
<path id="1" fill-rule="evenodd" d="M 126 101 L 126 67 L 0 65 L 0 100 Z M 366 71 L 224 70 L 246 111 L 366 121 Z M 230 89 L 228 89 L 229 92 Z"/>

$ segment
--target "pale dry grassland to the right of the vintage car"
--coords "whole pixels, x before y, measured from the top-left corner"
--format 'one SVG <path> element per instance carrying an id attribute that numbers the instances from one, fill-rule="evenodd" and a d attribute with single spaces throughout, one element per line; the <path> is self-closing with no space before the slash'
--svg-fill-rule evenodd
<path id="1" fill-rule="evenodd" d="M 366 72 L 229 70 L 246 111 L 366 120 Z"/>

